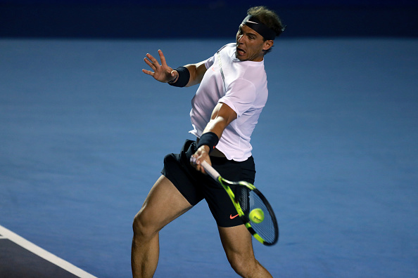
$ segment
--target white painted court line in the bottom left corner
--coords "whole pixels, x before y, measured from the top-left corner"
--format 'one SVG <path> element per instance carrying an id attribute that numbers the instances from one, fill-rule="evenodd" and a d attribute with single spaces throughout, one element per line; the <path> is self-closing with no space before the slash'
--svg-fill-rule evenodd
<path id="1" fill-rule="evenodd" d="M 49 253 L 41 247 L 32 244 L 32 242 L 27 241 L 23 237 L 20 237 L 18 234 L 15 234 L 11 230 L 7 230 L 5 227 L 1 225 L 0 234 L 0 239 L 10 239 L 15 244 L 22 246 L 24 249 L 29 250 L 30 252 L 34 253 L 35 255 L 41 258 L 44 258 L 45 260 L 48 260 L 50 263 L 53 263 L 54 265 L 58 265 L 62 269 L 67 270 L 68 272 L 75 274 L 80 278 L 96 278 L 95 276 L 85 272 L 84 270 L 76 267 L 75 265 L 68 263 L 66 260 L 58 258 L 57 256 L 53 255 L 52 253 Z"/>

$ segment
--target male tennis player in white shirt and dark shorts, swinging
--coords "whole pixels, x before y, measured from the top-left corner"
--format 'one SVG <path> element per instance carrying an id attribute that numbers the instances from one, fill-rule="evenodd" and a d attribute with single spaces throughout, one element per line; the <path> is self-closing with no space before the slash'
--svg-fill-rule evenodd
<path id="1" fill-rule="evenodd" d="M 207 161 L 227 180 L 254 183 L 255 164 L 251 134 L 267 101 L 265 54 L 283 32 L 281 20 L 264 6 L 248 10 L 239 25 L 236 42 L 215 55 L 177 69 L 152 55 L 144 59 L 151 70 L 145 74 L 172 86 L 200 84 L 191 100 L 190 112 L 196 140 L 186 140 L 179 154 L 164 158 L 162 176 L 134 218 L 132 274 L 153 277 L 158 264 L 158 232 L 172 220 L 205 199 L 216 220 L 229 263 L 242 277 L 272 277 L 253 253 L 251 234 L 238 217 L 224 189 L 208 175 Z M 194 162 L 191 164 L 191 157 Z"/>

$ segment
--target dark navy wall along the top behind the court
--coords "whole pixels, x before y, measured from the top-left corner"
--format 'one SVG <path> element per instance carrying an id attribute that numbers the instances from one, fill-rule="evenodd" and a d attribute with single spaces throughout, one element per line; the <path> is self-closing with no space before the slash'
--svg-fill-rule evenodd
<path id="1" fill-rule="evenodd" d="M 250 6 L 281 16 L 284 37 L 418 37 L 412 0 L 0 0 L 1 37 L 233 37 Z"/>

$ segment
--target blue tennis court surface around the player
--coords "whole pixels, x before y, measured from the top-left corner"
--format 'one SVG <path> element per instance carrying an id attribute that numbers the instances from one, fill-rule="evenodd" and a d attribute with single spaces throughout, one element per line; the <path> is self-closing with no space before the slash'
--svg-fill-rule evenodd
<path id="1" fill-rule="evenodd" d="M 95 277 L 130 277 L 132 219 L 192 138 L 196 91 L 154 81 L 143 58 L 160 48 L 177 67 L 228 42 L 0 39 L 0 225 Z M 260 263 L 418 277 L 418 40 L 282 39 L 265 67 L 255 185 L 280 239 L 254 242 Z M 4 240 L 2 258 L 26 263 Z M 202 202 L 160 233 L 155 277 L 213 276 L 236 274 Z"/>

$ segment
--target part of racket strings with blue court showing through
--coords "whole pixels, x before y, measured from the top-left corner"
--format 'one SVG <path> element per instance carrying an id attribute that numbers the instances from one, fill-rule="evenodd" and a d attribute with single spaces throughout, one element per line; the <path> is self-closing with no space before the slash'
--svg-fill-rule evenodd
<path id="1" fill-rule="evenodd" d="M 249 194 L 249 211 L 253 209 L 261 209 L 264 213 L 264 220 L 261 223 L 253 223 L 251 222 L 251 227 L 255 230 L 255 232 L 262 237 L 267 242 L 274 242 L 277 237 L 276 227 L 274 225 L 273 216 L 270 214 L 269 209 L 265 205 L 264 201 L 256 194 L 253 190 L 251 190 Z"/>

